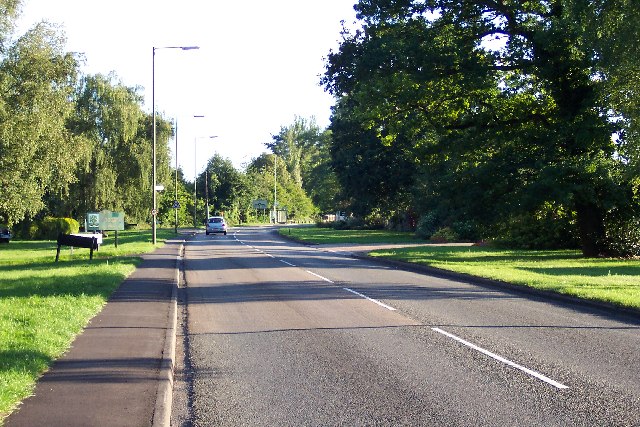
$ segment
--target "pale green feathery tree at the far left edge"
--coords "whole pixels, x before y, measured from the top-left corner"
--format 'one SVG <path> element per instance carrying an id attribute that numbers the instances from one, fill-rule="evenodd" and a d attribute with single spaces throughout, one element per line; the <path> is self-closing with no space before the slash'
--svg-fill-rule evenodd
<path id="1" fill-rule="evenodd" d="M 12 12 L 17 2 L 2 2 Z M 8 16 L 8 15 L 7 15 Z M 2 25 L 8 25 L 3 15 Z M 0 29 L 3 30 L 3 29 Z M 0 63 L 0 222 L 14 224 L 45 208 L 47 193 L 76 180 L 82 143 L 66 127 L 78 73 L 55 28 L 39 24 L 3 51 Z M 78 152 L 80 155 L 78 155 Z"/>

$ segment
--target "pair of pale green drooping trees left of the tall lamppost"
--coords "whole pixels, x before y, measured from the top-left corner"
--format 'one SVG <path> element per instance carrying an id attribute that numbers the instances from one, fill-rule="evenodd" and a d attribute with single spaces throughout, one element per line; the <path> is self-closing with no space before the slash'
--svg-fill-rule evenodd
<path id="1" fill-rule="evenodd" d="M 0 222 L 44 215 L 77 219 L 149 213 L 152 117 L 136 88 L 115 75 L 82 75 L 56 27 L 40 23 L 12 41 L 18 1 L 0 0 Z M 158 120 L 158 170 L 169 176 L 171 125 Z"/>

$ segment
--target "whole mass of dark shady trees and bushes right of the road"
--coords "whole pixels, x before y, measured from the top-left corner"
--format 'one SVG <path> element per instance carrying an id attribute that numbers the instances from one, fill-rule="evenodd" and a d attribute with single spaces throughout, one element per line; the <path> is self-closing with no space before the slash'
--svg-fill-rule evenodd
<path id="1" fill-rule="evenodd" d="M 360 0 L 322 83 L 354 212 L 640 254 L 640 3 Z"/>

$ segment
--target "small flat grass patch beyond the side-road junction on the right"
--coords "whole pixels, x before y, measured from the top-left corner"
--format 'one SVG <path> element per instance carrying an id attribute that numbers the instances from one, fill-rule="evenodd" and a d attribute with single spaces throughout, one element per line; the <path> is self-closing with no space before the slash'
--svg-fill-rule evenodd
<path id="1" fill-rule="evenodd" d="M 334 230 L 319 227 L 283 227 L 280 234 L 315 244 L 328 243 L 416 243 L 413 233 L 390 230 Z M 424 240 L 422 240 L 424 242 Z"/>

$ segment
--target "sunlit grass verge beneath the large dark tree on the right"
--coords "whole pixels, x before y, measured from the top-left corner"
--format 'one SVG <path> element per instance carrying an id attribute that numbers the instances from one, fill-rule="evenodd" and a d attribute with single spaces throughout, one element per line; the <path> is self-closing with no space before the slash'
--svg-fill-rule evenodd
<path id="1" fill-rule="evenodd" d="M 640 309 L 638 260 L 583 258 L 577 251 L 481 247 L 403 248 L 371 255 Z"/>

